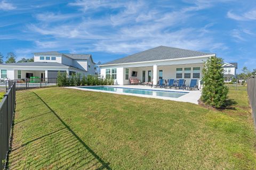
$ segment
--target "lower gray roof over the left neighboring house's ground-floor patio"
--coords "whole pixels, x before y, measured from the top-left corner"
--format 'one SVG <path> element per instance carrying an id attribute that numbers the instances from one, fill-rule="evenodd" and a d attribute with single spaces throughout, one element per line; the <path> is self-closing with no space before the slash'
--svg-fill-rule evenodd
<path id="1" fill-rule="evenodd" d="M 17 62 L 17 63 L 4 63 L 4 64 L 0 64 L 0 66 L 71 67 L 71 68 L 79 69 L 79 68 L 76 68 L 73 66 L 67 66 L 65 64 L 61 64 L 58 62 Z M 79 69 L 79 70 L 82 70 L 82 69 Z"/>

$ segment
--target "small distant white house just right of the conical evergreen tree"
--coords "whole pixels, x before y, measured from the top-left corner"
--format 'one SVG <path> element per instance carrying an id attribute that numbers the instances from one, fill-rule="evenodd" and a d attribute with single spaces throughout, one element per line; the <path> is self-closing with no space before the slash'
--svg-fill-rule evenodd
<path id="1" fill-rule="evenodd" d="M 224 77 L 226 82 L 231 82 L 233 78 L 236 78 L 237 62 L 225 62 L 222 67 L 224 69 Z"/>

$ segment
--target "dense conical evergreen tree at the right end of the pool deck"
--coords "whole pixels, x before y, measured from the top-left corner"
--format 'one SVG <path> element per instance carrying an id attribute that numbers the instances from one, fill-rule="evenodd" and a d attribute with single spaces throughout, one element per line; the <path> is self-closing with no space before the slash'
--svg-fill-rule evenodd
<path id="1" fill-rule="evenodd" d="M 201 100 L 212 107 L 224 107 L 227 100 L 228 87 L 224 84 L 223 60 L 216 56 L 204 63 L 203 91 Z"/>

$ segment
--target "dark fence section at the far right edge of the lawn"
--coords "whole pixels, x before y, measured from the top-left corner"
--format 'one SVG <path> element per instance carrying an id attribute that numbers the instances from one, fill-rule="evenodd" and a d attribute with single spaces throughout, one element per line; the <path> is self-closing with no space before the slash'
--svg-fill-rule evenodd
<path id="1" fill-rule="evenodd" d="M 256 128 L 256 76 L 247 79 L 247 93 L 252 107 L 252 116 Z"/>

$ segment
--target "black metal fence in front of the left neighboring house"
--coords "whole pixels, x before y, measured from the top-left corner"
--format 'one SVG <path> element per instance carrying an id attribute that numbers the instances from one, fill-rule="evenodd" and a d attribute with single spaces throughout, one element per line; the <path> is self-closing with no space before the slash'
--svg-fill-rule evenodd
<path id="1" fill-rule="evenodd" d="M 16 90 L 27 90 L 30 88 L 42 88 L 57 86 L 57 78 L 25 78 L 5 80 L 0 84 L 0 91 L 6 92 L 8 90 L 9 83 L 16 83 Z"/>

